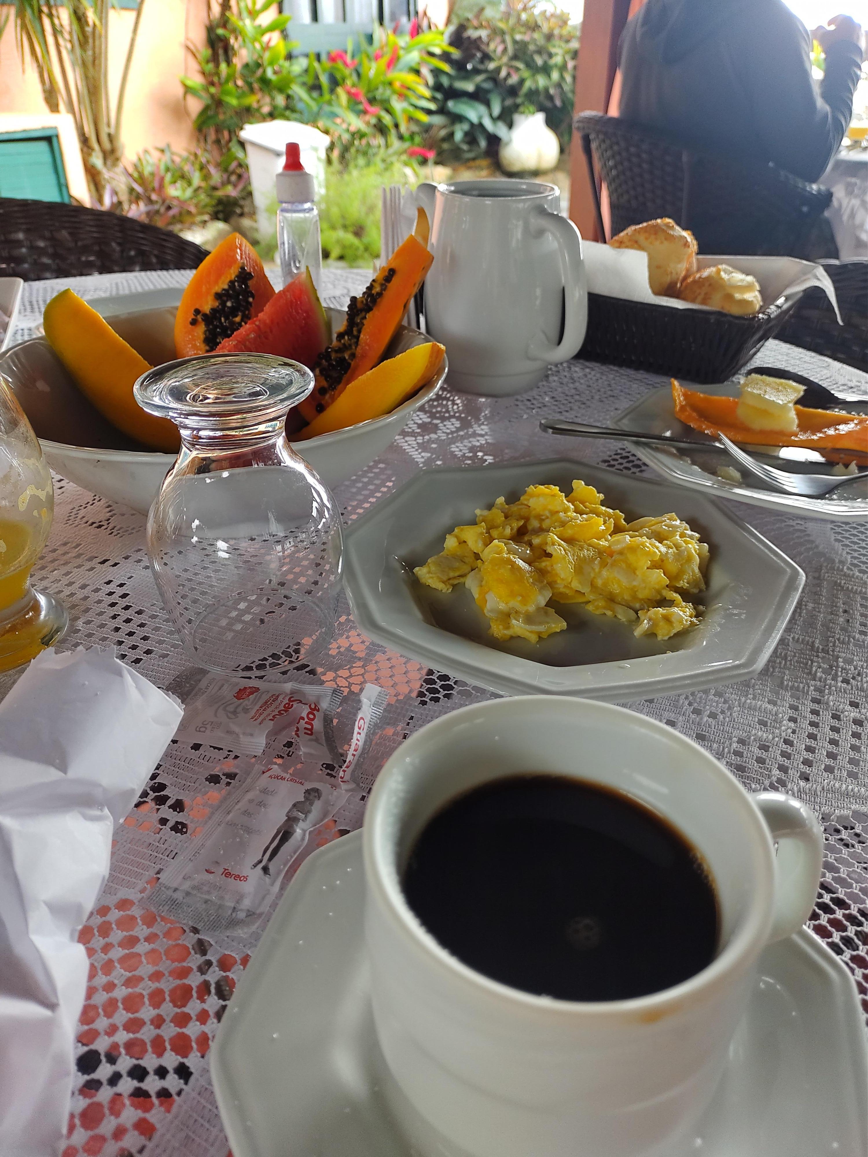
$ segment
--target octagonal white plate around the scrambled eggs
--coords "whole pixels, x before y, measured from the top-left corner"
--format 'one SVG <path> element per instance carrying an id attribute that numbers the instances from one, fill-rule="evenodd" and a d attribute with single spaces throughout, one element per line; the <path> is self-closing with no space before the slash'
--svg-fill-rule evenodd
<path id="1" fill-rule="evenodd" d="M 701 621 L 665 641 L 637 639 L 623 622 L 558 604 L 566 631 L 531 643 L 498 642 L 470 591 L 418 582 L 413 567 L 443 548 L 448 531 L 515 501 L 534 482 L 567 492 L 581 478 L 628 517 L 674 510 L 711 548 Z M 422 470 L 351 524 L 345 587 L 359 627 L 372 639 L 505 694 L 560 694 L 619 702 L 756 675 L 793 613 L 804 575 L 790 559 L 723 507 L 690 491 L 568 459 L 473 469 Z"/>

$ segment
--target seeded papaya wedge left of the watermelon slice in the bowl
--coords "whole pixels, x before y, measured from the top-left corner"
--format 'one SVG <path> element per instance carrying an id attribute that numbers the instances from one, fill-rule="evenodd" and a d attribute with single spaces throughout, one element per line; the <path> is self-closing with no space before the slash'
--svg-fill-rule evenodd
<path id="1" fill-rule="evenodd" d="M 274 296 L 263 263 L 240 233 L 229 234 L 190 279 L 175 315 L 178 358 L 213 353 Z"/>

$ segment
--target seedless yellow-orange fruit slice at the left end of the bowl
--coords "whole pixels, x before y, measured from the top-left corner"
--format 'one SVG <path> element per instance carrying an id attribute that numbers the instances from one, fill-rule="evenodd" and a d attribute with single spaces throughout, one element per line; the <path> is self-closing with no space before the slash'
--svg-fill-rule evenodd
<path id="1" fill-rule="evenodd" d="M 176 454 L 181 435 L 168 418 L 146 413 L 133 384 L 150 366 L 72 289 L 52 297 L 43 312 L 49 345 L 103 418 L 154 450 Z"/>

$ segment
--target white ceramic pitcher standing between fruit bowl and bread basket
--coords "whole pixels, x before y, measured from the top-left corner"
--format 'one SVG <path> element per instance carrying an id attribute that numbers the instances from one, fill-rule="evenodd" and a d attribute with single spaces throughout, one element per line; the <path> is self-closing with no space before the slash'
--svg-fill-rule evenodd
<path id="1" fill-rule="evenodd" d="M 521 393 L 579 352 L 588 323 L 582 238 L 560 215 L 556 185 L 426 183 L 417 202 L 432 220 L 434 252 L 425 324 L 447 347 L 451 386 Z"/>

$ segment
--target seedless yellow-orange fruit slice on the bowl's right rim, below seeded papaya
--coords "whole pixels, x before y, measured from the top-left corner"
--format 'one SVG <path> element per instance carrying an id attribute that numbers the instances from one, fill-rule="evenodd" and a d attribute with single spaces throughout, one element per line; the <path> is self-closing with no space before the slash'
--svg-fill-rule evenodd
<path id="1" fill-rule="evenodd" d="M 304 427 L 297 440 L 343 430 L 391 413 L 434 376 L 444 353 L 443 346 L 428 341 L 381 362 L 351 382 L 328 410 Z"/>

